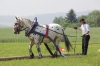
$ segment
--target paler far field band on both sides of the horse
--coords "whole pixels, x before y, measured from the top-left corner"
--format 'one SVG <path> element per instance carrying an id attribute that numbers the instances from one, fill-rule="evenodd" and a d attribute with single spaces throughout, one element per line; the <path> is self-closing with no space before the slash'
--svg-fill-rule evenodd
<path id="1" fill-rule="evenodd" d="M 100 28 L 95 27 L 91 28 L 90 35 L 91 40 L 90 43 L 100 43 Z M 76 36 L 76 30 L 73 28 L 66 28 L 66 34 L 70 36 Z M 77 43 L 81 44 L 81 31 L 77 30 Z M 74 42 L 76 37 L 69 37 L 69 40 L 71 42 Z M 24 31 L 22 31 L 20 34 L 16 35 L 13 33 L 13 28 L 0 28 L 0 42 L 29 42 L 28 38 L 24 35 Z"/>

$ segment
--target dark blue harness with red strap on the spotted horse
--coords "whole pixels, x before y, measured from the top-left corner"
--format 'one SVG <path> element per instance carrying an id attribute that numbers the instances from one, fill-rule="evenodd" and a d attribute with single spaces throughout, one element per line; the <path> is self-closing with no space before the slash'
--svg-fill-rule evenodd
<path id="1" fill-rule="evenodd" d="M 39 25 L 38 25 L 38 22 L 35 22 L 35 23 L 32 25 L 32 28 L 31 28 L 30 30 L 29 30 L 29 29 L 26 29 L 26 31 L 25 31 L 25 36 L 29 36 L 31 33 L 38 34 L 38 35 L 40 35 L 40 36 L 43 37 L 41 43 L 43 42 L 44 37 L 46 37 L 46 38 L 50 39 L 50 40 L 53 42 L 54 46 L 56 47 L 56 49 L 57 49 L 57 50 L 59 51 L 59 53 L 61 54 L 61 52 L 60 52 L 58 46 L 56 45 L 56 43 L 54 42 L 54 40 L 51 39 L 51 37 L 48 36 L 49 26 L 46 25 L 46 33 L 45 33 L 45 34 L 35 31 L 35 29 L 36 29 L 37 26 L 39 26 Z M 47 50 L 49 51 L 49 53 L 53 56 L 53 53 L 51 52 L 51 50 L 50 50 L 50 48 L 48 47 L 48 45 L 47 45 L 46 43 L 44 43 L 44 44 L 45 44 Z"/>

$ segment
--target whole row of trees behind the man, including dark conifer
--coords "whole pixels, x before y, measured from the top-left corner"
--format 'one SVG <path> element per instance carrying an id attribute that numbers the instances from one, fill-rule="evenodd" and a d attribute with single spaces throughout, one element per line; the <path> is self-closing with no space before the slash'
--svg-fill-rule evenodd
<path id="1" fill-rule="evenodd" d="M 80 19 L 85 19 L 86 23 L 88 23 L 91 27 L 100 27 L 100 11 L 94 10 L 90 12 L 88 15 L 76 15 L 75 11 L 73 9 L 69 10 L 68 13 L 66 13 L 65 17 L 59 16 L 55 17 L 53 20 L 53 23 L 60 24 L 62 27 L 74 27 L 74 26 L 80 26 Z"/>

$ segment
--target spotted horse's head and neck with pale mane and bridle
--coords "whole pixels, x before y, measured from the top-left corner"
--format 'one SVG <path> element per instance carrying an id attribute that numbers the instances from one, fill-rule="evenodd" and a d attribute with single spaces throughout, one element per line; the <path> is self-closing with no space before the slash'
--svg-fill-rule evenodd
<path id="1" fill-rule="evenodd" d="M 26 19 L 26 18 L 18 18 L 15 17 L 15 22 L 14 22 L 14 33 L 15 34 L 19 34 L 20 31 L 22 30 L 26 30 L 31 29 L 31 26 L 35 24 L 35 22 L 31 21 L 30 19 Z"/>

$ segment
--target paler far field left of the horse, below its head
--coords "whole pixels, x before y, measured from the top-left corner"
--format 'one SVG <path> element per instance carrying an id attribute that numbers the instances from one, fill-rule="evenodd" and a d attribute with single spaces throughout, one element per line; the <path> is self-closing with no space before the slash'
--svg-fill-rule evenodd
<path id="1" fill-rule="evenodd" d="M 0 42 L 28 42 L 24 31 L 20 34 L 14 34 L 13 28 L 0 28 Z"/>

